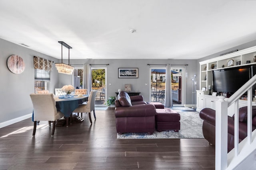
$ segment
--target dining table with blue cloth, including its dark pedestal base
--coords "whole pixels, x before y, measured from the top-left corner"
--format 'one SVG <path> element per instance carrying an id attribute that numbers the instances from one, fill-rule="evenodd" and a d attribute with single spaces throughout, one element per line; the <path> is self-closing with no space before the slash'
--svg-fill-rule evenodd
<path id="1" fill-rule="evenodd" d="M 87 102 L 88 96 L 89 95 L 84 94 L 82 96 L 73 95 L 69 98 L 65 98 L 65 96 L 58 96 L 58 98 L 54 98 L 57 110 L 65 115 L 64 117 L 66 118 L 67 127 L 72 123 L 72 113 L 74 109 L 76 109 L 79 104 Z"/>

